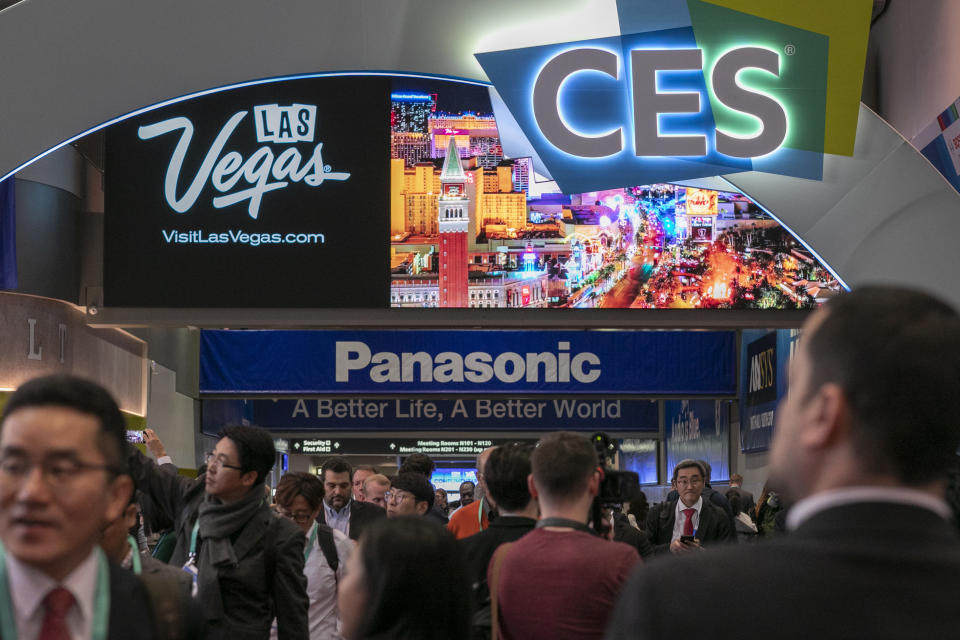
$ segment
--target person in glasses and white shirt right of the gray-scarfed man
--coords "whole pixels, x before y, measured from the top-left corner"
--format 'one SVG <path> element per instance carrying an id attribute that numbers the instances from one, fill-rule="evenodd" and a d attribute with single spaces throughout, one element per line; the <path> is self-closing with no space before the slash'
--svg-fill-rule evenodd
<path id="1" fill-rule="evenodd" d="M 323 483 L 312 473 L 284 474 L 277 483 L 274 499 L 280 514 L 290 518 L 307 536 L 303 555 L 310 598 L 310 638 L 342 640 L 338 631 L 337 586 L 354 542 L 340 531 L 316 521 L 323 508 Z"/>

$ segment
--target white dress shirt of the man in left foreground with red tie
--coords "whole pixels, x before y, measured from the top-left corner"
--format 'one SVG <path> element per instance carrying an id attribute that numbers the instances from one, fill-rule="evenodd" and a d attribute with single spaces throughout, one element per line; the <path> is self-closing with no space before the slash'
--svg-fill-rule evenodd
<path id="1" fill-rule="evenodd" d="M 64 587 L 73 594 L 74 603 L 67 612 L 67 628 L 72 640 L 92 640 L 93 599 L 97 587 L 97 549 L 74 569 L 63 582 L 58 583 L 47 574 L 26 565 L 8 551 L 7 575 L 10 580 L 10 599 L 13 602 L 17 637 L 34 640 L 43 628 L 46 609 L 43 599 L 52 589 Z"/>

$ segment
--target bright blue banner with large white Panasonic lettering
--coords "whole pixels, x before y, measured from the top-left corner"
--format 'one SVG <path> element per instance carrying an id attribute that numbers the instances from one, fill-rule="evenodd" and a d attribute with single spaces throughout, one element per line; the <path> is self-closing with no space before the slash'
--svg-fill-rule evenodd
<path id="1" fill-rule="evenodd" d="M 203 331 L 200 393 L 736 394 L 732 331 Z"/>

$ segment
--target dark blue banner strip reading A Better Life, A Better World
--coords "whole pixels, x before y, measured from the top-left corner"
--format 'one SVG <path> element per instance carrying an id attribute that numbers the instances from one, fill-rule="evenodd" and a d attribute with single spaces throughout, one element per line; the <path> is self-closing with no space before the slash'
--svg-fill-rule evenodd
<path id="1" fill-rule="evenodd" d="M 654 400 L 543 396 L 206 399 L 203 431 L 255 424 L 276 431 L 659 431 Z M 654 456 L 656 457 L 656 456 Z"/>

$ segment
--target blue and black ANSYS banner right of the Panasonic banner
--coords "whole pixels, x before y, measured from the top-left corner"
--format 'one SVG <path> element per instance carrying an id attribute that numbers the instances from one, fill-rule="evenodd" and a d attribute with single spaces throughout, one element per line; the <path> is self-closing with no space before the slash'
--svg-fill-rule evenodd
<path id="1" fill-rule="evenodd" d="M 744 330 L 740 350 L 740 450 L 765 451 L 773 441 L 777 405 L 787 394 L 787 366 L 798 329 Z"/>

